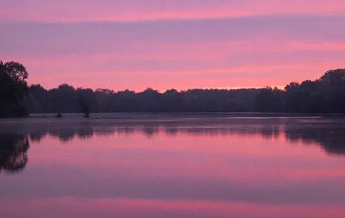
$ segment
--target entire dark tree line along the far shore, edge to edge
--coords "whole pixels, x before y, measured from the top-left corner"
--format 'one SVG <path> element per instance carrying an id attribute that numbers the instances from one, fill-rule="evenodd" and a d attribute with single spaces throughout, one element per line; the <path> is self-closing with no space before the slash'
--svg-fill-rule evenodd
<path id="1" fill-rule="evenodd" d="M 329 70 L 320 79 L 291 82 L 284 89 L 154 89 L 130 90 L 75 88 L 61 84 L 44 89 L 28 86 L 28 71 L 16 62 L 0 62 L 0 117 L 29 113 L 140 112 L 263 112 L 345 113 L 345 69 Z"/>

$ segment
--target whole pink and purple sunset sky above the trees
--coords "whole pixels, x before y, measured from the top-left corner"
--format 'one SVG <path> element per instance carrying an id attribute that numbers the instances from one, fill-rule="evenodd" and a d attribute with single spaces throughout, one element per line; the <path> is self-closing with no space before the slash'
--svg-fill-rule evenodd
<path id="1" fill-rule="evenodd" d="M 0 59 L 30 84 L 279 86 L 345 67 L 344 0 L 0 0 Z"/>

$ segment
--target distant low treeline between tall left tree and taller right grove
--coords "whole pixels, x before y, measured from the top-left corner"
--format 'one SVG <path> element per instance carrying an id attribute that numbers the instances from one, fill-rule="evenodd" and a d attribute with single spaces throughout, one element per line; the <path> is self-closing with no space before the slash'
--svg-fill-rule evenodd
<path id="1" fill-rule="evenodd" d="M 46 90 L 30 86 L 31 113 L 92 113 L 112 112 L 236 112 L 254 111 L 258 89 L 218 90 L 171 89 L 159 93 L 153 89 L 143 92 L 111 91 L 109 89 L 75 89 L 62 84 Z"/>

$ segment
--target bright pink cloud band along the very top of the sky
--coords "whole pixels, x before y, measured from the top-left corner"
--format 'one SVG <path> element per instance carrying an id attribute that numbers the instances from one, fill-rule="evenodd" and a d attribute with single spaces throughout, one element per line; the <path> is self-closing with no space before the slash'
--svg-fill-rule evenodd
<path id="1" fill-rule="evenodd" d="M 255 15 L 344 14 L 342 0 L 1 0 L 1 20 L 133 21 Z"/>

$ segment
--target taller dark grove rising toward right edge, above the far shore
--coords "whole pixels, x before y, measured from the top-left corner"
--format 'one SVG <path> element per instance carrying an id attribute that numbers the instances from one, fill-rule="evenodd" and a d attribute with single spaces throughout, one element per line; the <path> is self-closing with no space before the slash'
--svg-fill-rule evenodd
<path id="1" fill-rule="evenodd" d="M 284 90 L 262 89 L 256 108 L 261 112 L 345 113 L 345 69 L 329 70 L 315 81 L 291 82 Z"/>

